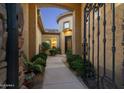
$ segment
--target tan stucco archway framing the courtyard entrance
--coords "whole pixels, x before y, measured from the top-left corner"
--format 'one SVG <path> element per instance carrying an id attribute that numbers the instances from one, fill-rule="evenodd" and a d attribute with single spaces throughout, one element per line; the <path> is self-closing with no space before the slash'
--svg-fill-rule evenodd
<path id="1" fill-rule="evenodd" d="M 73 12 L 73 34 L 72 34 L 72 50 L 73 54 L 79 54 L 81 55 L 81 4 L 52 4 L 52 3 L 46 3 L 46 4 L 30 4 L 29 5 L 29 11 L 31 9 L 32 13 L 29 13 L 29 18 L 35 17 L 35 19 L 30 19 L 29 22 L 29 31 L 30 29 L 33 30 L 32 32 L 29 32 L 29 56 L 31 58 L 32 55 L 35 53 L 35 46 L 32 49 L 32 41 L 35 40 L 35 30 L 36 30 L 36 23 L 37 23 L 37 9 L 38 8 L 43 8 L 43 7 L 56 7 L 56 8 L 62 8 L 62 9 L 67 9 Z M 33 9 L 32 9 L 33 8 Z M 35 27 L 33 27 L 35 26 Z M 34 38 L 34 40 L 32 40 Z M 31 44 L 31 45 L 30 45 Z M 33 52 L 32 52 L 33 51 Z"/>

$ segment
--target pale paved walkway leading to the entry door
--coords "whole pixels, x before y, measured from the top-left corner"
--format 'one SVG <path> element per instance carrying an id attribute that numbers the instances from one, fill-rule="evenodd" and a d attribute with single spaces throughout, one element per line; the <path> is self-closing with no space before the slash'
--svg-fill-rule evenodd
<path id="1" fill-rule="evenodd" d="M 86 89 L 63 61 L 64 56 L 48 57 L 43 89 Z"/>

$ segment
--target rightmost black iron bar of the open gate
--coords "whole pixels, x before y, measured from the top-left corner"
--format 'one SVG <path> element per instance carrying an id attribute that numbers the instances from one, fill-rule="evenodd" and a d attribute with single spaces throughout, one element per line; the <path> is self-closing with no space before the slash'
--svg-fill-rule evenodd
<path id="1" fill-rule="evenodd" d="M 115 4 L 112 4 L 112 80 L 115 82 Z"/>

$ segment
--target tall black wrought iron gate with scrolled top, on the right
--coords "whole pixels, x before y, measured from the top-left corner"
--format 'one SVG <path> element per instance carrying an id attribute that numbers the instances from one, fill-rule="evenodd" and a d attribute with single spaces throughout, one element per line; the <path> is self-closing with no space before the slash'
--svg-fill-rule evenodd
<path id="1" fill-rule="evenodd" d="M 112 48 L 110 55 L 111 58 L 111 76 L 106 75 L 106 4 L 86 4 L 84 8 L 84 33 L 83 33 L 83 58 L 84 62 L 87 64 L 87 61 L 91 61 L 92 66 L 95 69 L 95 76 L 92 75 L 92 72 L 86 71 L 85 80 L 89 85 L 94 85 L 94 88 L 117 88 L 115 82 L 115 44 L 116 44 L 116 25 L 115 25 L 115 4 L 109 4 L 112 8 L 111 11 L 111 43 Z M 102 24 L 101 24 L 102 23 Z M 91 25 L 92 24 L 92 25 Z M 103 34 L 100 34 L 100 33 Z M 102 39 L 102 40 L 101 40 Z M 102 44 L 101 44 L 101 41 Z M 102 46 L 101 46 L 102 45 Z M 102 47 L 102 48 L 101 48 Z M 100 52 L 100 51 L 103 52 Z M 101 58 L 102 57 L 102 61 Z M 102 71 L 101 64 L 102 62 Z M 91 65 L 86 65 L 86 68 Z M 94 77 L 94 78 L 92 78 Z"/>

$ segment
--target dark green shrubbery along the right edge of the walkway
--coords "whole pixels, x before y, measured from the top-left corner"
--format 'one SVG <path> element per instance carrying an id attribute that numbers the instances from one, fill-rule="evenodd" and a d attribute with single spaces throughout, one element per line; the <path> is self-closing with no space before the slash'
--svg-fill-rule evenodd
<path id="1" fill-rule="evenodd" d="M 67 62 L 70 68 L 78 73 L 81 77 L 95 77 L 95 69 L 91 62 L 86 60 L 79 55 L 72 55 L 69 53 L 67 56 Z"/>

